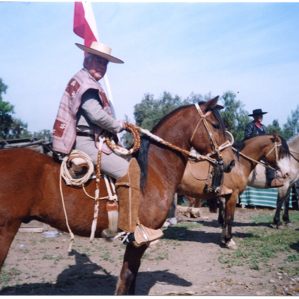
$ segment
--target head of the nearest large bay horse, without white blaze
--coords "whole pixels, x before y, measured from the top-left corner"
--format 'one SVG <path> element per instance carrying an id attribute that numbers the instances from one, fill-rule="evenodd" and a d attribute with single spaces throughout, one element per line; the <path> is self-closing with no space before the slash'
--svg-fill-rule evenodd
<path id="1" fill-rule="evenodd" d="M 199 106 L 196 106 L 198 113 L 193 124 L 197 125 L 191 135 L 190 144 L 194 149 L 201 149 L 203 155 L 217 159 L 221 172 L 230 172 L 235 160 L 223 120 L 216 109 L 218 98 L 219 96 L 207 102 L 199 102 Z"/>

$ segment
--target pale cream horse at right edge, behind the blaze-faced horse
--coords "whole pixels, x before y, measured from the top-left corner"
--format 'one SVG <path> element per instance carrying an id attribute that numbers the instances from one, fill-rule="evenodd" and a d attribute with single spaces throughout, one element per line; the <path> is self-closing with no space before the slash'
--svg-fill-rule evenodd
<path id="1" fill-rule="evenodd" d="M 289 204 L 292 186 L 299 179 L 299 134 L 291 137 L 287 141 L 287 144 L 289 146 L 290 155 L 289 159 L 286 161 L 286 164 L 290 167 L 290 170 L 283 176 L 283 179 L 280 179 L 284 185 L 278 188 L 277 209 L 273 218 L 273 223 L 278 229 L 285 228 L 280 221 L 280 213 L 283 204 L 284 214 L 282 220 L 285 222 L 286 226 L 293 226 L 293 223 L 289 218 Z M 263 171 L 263 167 L 259 168 L 260 169 L 257 170 L 259 171 L 260 175 L 256 175 L 254 172 L 252 172 L 248 178 L 247 185 L 259 189 L 269 189 L 269 186 L 266 183 L 266 176 Z"/>

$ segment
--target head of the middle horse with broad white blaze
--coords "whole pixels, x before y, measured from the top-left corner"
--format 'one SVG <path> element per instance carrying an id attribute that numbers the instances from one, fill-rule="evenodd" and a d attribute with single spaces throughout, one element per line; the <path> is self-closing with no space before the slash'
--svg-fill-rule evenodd
<path id="1" fill-rule="evenodd" d="M 290 175 L 290 151 L 287 142 L 273 131 L 272 145 L 265 149 L 265 156 L 270 166 L 276 169 L 278 177 L 287 178 Z"/>

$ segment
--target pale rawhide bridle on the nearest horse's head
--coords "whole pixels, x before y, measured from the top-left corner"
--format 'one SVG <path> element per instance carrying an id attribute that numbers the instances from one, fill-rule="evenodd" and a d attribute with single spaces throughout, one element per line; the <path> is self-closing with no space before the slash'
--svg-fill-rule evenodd
<path id="1" fill-rule="evenodd" d="M 210 128 L 210 126 L 209 126 L 209 124 L 208 124 L 208 122 L 206 120 L 206 117 L 209 116 L 212 113 L 212 111 L 209 110 L 209 111 L 206 112 L 206 114 L 203 114 L 202 111 L 201 111 L 201 109 L 200 109 L 200 107 L 199 107 L 199 105 L 197 103 L 194 104 L 194 105 L 195 105 L 195 107 L 197 109 L 197 112 L 200 115 L 200 120 L 199 120 L 199 122 L 197 123 L 197 125 L 196 125 L 196 127 L 194 129 L 194 132 L 193 132 L 192 137 L 190 139 L 190 143 L 192 142 L 192 140 L 193 140 L 193 138 L 195 136 L 195 133 L 196 133 L 196 131 L 197 131 L 200 123 L 203 122 L 204 127 L 205 127 L 205 129 L 206 129 L 206 131 L 208 133 L 208 137 L 210 139 L 210 144 L 211 144 L 211 148 L 212 148 L 212 152 L 206 154 L 206 156 L 211 156 L 211 155 L 217 153 L 217 155 L 218 155 L 218 161 L 216 161 L 215 164 L 217 164 L 217 163 L 222 164 L 223 163 L 223 157 L 222 157 L 222 154 L 221 154 L 221 150 L 226 149 L 228 147 L 231 147 L 232 145 L 231 145 L 230 141 L 227 140 L 224 144 L 222 144 L 220 147 L 218 147 L 218 145 L 216 143 L 216 140 L 215 140 L 215 138 L 213 136 L 213 133 L 211 131 L 211 128 Z"/>

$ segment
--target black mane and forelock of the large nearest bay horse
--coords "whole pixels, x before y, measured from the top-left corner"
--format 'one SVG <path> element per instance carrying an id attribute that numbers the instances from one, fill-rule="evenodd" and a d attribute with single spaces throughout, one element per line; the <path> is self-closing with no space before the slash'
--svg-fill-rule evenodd
<path id="1" fill-rule="evenodd" d="M 202 105 L 206 102 L 201 101 L 198 103 L 198 105 Z M 169 114 L 165 115 L 155 126 L 154 128 L 150 131 L 151 133 L 153 133 L 154 131 L 156 131 L 159 127 L 161 127 L 166 120 L 171 117 L 173 114 L 176 114 L 177 112 L 179 112 L 180 110 L 183 109 L 187 109 L 188 107 L 190 107 L 192 105 L 186 105 L 186 106 L 181 106 L 173 111 L 171 111 Z M 217 122 L 220 125 L 220 132 L 225 135 L 225 127 L 223 124 L 223 120 L 220 116 L 220 113 L 218 112 L 217 109 L 215 108 L 210 108 L 207 109 L 207 111 L 211 111 L 215 117 L 215 119 L 217 120 Z M 161 144 L 158 144 L 157 142 L 151 140 L 148 136 L 142 136 L 141 137 L 141 145 L 140 148 L 137 152 L 133 153 L 133 156 L 137 158 L 139 167 L 140 167 L 140 187 L 142 192 L 144 192 L 144 188 L 146 187 L 147 184 L 147 180 L 148 180 L 148 153 L 149 153 L 149 145 L 150 144 L 157 144 L 159 146 L 163 146 Z M 170 148 L 168 148 L 169 150 L 172 150 Z"/>

